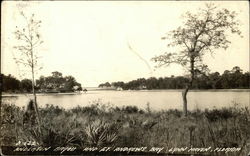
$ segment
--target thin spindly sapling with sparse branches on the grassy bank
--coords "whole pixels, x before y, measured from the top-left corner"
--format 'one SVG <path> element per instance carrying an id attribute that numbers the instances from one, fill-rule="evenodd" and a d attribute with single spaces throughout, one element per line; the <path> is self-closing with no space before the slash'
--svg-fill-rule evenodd
<path id="1" fill-rule="evenodd" d="M 38 112 L 35 90 L 35 73 L 37 70 L 41 69 L 41 67 L 38 65 L 39 56 L 37 48 L 43 43 L 39 33 L 39 28 L 42 22 L 40 20 L 36 20 L 34 14 L 32 14 L 30 18 L 26 17 L 23 12 L 20 12 L 20 14 L 25 20 L 25 25 L 22 27 L 16 26 L 16 31 L 14 32 L 18 41 L 17 45 L 14 46 L 18 53 L 16 56 L 18 57 L 15 57 L 14 59 L 16 60 L 17 64 L 28 68 L 31 73 L 32 93 L 34 97 L 33 103 L 40 129 L 40 116 Z"/>

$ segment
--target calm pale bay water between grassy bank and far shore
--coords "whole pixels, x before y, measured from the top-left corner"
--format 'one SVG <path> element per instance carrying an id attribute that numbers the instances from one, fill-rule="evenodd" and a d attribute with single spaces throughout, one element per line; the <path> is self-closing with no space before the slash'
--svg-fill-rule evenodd
<path id="1" fill-rule="evenodd" d="M 7 96 L 3 101 L 23 107 L 31 95 Z M 102 103 L 109 103 L 113 106 L 135 105 L 139 108 L 146 108 L 147 103 L 153 110 L 161 109 L 182 109 L 181 91 L 88 91 L 82 94 L 47 94 L 38 95 L 38 104 L 44 107 L 46 104 L 54 104 L 66 109 L 79 106 L 87 106 L 93 101 L 100 100 Z M 222 108 L 233 106 L 238 103 L 242 107 L 250 107 L 250 92 L 235 91 L 198 91 L 188 93 L 188 109 L 196 108 Z"/>

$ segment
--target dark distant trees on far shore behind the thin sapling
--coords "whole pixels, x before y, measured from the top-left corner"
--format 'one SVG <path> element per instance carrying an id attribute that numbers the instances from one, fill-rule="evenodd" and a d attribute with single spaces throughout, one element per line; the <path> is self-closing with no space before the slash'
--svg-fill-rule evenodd
<path id="1" fill-rule="evenodd" d="M 30 79 L 18 80 L 12 75 L 1 74 L 1 89 L 3 92 L 30 93 L 32 81 Z M 52 72 L 51 76 L 41 76 L 36 80 L 37 92 L 73 92 L 81 91 L 82 86 L 73 76 L 62 76 L 60 72 Z"/>

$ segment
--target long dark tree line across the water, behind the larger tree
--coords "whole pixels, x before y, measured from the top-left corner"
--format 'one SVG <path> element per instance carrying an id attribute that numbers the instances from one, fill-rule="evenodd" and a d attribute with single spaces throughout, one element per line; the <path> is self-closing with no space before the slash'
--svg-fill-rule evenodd
<path id="1" fill-rule="evenodd" d="M 183 89 L 189 80 L 184 76 L 171 77 L 151 77 L 148 79 L 139 78 L 127 83 L 118 81 L 113 83 L 103 83 L 99 87 L 115 87 L 124 90 L 137 89 Z M 207 75 L 197 75 L 192 89 L 248 89 L 250 83 L 250 73 L 243 71 L 238 67 L 234 67 L 231 71 L 225 70 L 222 75 L 219 72 L 210 73 Z"/>

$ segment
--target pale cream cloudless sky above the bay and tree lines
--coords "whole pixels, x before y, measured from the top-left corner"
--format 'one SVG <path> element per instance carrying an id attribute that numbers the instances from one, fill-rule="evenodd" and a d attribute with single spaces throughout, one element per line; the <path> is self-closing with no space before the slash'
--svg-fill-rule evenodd
<path id="1" fill-rule="evenodd" d="M 1 72 L 18 79 L 30 77 L 13 57 L 17 44 L 13 32 L 22 26 L 23 11 L 42 21 L 44 43 L 37 48 L 43 69 L 37 74 L 59 71 L 72 75 L 83 87 L 137 78 L 185 75 L 179 65 L 155 68 L 151 58 L 167 51 L 161 40 L 168 31 L 181 26 L 181 16 L 195 13 L 205 1 L 5 1 L 1 12 Z M 228 35 L 227 50 L 206 55 L 211 72 L 239 66 L 249 71 L 249 4 L 247 1 L 213 1 L 219 8 L 238 13 L 243 38 Z M 132 50 L 129 48 L 132 47 Z"/>

